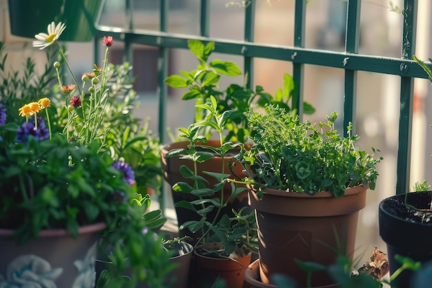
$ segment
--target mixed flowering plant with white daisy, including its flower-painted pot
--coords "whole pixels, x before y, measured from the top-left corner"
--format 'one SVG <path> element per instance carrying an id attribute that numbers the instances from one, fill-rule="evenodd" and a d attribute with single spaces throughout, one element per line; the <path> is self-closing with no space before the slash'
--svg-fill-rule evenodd
<path id="1" fill-rule="evenodd" d="M 50 24 L 48 34 L 38 35 L 34 45 L 57 44 L 65 28 L 61 23 Z M 99 116 L 109 94 L 106 71 L 112 39 L 105 37 L 104 44 L 106 66 L 92 75 L 89 94 L 84 93 L 84 85 L 77 88 L 79 95 L 72 94 L 76 85 L 61 85 L 61 64 L 53 66 L 67 95 L 64 107 L 64 97 L 63 102 L 48 97 L 37 100 L 51 85 L 48 70 L 37 80 L 40 85 L 30 84 L 31 90 L 23 93 L 14 95 L 13 88 L 1 86 L 6 102 L 0 104 L 0 234 L 1 247 L 7 251 L 1 258 L 2 285 L 94 287 L 98 241 L 101 251 L 112 247 L 115 265 L 108 275 L 117 277 L 132 267 L 126 287 L 135 287 L 138 280 L 161 287 L 171 269 L 161 239 L 143 233 L 163 224 L 160 211 L 146 212 L 148 198 L 135 193 L 131 167 L 104 149 Z M 30 73 L 23 77 L 30 77 L 32 67 L 28 61 Z M 17 75 L 7 75 L 3 84 L 21 83 Z M 83 79 L 86 82 L 90 76 Z M 12 117 L 18 113 L 21 123 Z"/>

